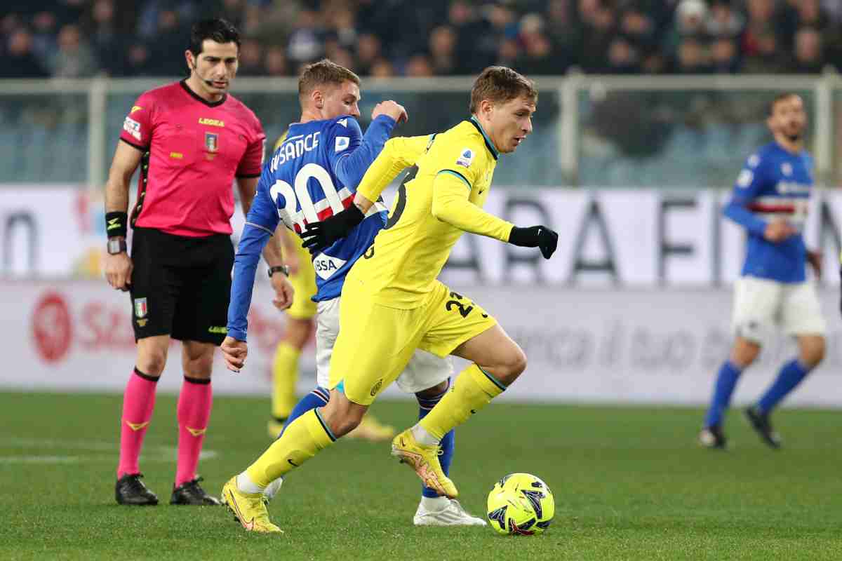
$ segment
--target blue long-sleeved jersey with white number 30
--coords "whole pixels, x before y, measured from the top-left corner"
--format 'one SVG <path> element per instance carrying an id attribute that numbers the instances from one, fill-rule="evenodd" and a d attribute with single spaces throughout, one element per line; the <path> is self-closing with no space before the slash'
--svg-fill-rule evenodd
<path id="1" fill-rule="evenodd" d="M 229 336 L 246 341 L 246 317 L 260 252 L 278 224 L 283 221 L 300 235 L 307 224 L 349 207 L 365 170 L 380 154 L 394 126 L 395 120 L 386 115 L 374 119 L 365 135 L 348 115 L 290 125 L 286 139 L 264 165 L 242 230 L 228 307 Z M 381 202 L 372 205 L 365 220 L 347 237 L 313 258 L 318 288 L 314 300 L 342 293 L 345 275 L 386 224 L 386 214 Z"/>

